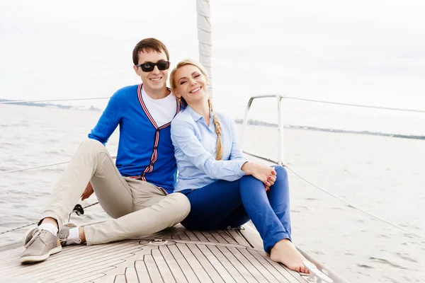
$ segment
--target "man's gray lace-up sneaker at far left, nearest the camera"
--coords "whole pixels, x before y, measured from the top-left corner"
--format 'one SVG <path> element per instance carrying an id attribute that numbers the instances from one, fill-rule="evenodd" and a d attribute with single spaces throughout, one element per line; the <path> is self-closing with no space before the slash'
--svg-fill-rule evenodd
<path id="1" fill-rule="evenodd" d="M 30 237 L 32 236 L 32 237 Z M 27 241 L 28 237 L 30 240 Z M 26 243 L 24 252 L 21 255 L 21 262 L 39 262 L 46 260 L 55 253 L 62 250 L 59 237 L 45 229 L 32 229 L 23 237 Z"/>

